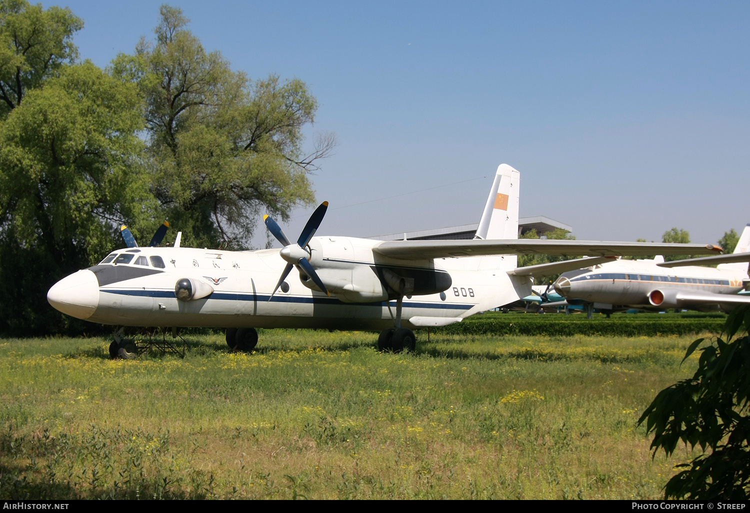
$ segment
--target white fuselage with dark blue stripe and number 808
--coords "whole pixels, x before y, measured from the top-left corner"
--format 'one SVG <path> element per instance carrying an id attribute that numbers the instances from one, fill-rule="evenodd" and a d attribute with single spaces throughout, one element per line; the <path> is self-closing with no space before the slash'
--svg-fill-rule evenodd
<path id="1" fill-rule="evenodd" d="M 530 293 L 500 257 L 395 260 L 374 254 L 378 241 L 315 237 L 310 261 L 332 296 L 304 273 L 292 272 L 272 296 L 286 262 L 279 251 L 125 248 L 97 266 L 59 281 L 48 300 L 65 314 L 121 326 L 384 329 L 393 326 L 396 298 L 389 272 L 413 280 L 403 325 L 443 326 Z M 188 279 L 195 299 L 178 299 Z M 208 288 L 206 288 L 208 286 Z"/>

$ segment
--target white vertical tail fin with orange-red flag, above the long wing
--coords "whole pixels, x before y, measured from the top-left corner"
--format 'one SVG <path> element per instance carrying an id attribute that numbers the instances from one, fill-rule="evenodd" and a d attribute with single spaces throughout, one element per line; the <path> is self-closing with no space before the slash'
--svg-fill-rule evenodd
<path id="1" fill-rule="evenodd" d="M 520 172 L 508 164 L 497 166 L 474 239 L 518 239 L 519 187 Z"/>

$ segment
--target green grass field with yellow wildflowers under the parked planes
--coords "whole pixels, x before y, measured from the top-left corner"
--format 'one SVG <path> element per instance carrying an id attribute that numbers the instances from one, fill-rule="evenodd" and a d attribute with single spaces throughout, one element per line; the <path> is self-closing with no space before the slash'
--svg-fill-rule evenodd
<path id="1" fill-rule="evenodd" d="M 645 499 L 692 454 L 652 460 L 635 422 L 695 336 L 376 338 L 193 335 L 134 361 L 2 339 L 0 497 Z"/>

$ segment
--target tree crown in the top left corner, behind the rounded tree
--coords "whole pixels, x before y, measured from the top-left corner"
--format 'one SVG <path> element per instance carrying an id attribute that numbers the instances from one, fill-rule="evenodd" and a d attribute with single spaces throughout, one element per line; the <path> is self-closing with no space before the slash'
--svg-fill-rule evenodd
<path id="1" fill-rule="evenodd" d="M 71 10 L 0 0 L 0 118 L 18 107 L 26 92 L 40 86 L 78 57 L 73 34 L 83 21 Z"/>

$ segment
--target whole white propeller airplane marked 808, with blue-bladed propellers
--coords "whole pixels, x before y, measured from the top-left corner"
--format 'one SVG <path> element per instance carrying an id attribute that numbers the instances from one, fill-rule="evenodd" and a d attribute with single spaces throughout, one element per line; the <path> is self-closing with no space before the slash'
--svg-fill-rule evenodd
<path id="1" fill-rule="evenodd" d="M 507 164 L 497 168 L 475 240 L 314 237 L 328 205 L 323 202 L 296 242 L 265 216 L 266 226 L 284 245 L 281 251 L 180 248 L 178 234 L 173 248 L 113 251 L 98 266 L 58 281 L 47 299 L 59 311 L 92 323 L 226 328 L 227 344 L 239 350 L 255 347 L 256 328 L 383 330 L 381 350 L 413 350 L 412 329 L 458 323 L 529 296 L 538 273 L 579 269 L 618 255 L 720 249 L 518 240 L 519 184 L 517 170 Z M 517 254 L 595 257 L 517 268 Z M 287 281 L 293 268 L 299 279 Z M 117 344 L 110 353 L 118 354 Z"/>

